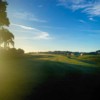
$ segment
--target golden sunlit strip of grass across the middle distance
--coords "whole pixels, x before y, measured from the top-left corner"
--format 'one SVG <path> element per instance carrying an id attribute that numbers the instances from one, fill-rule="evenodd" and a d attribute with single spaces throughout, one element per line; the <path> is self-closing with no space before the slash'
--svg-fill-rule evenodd
<path id="1" fill-rule="evenodd" d="M 85 57 L 79 57 L 81 59 L 85 59 Z M 76 65 L 84 65 L 84 66 L 94 66 L 93 64 L 91 63 L 87 63 L 87 62 L 83 62 L 79 59 L 78 57 L 71 57 L 71 58 L 68 58 L 68 56 L 63 56 L 63 55 L 44 55 L 44 57 L 41 57 L 38 58 L 40 60 L 49 60 L 49 61 L 57 61 L 57 62 L 62 62 L 62 63 L 67 63 L 67 64 L 76 64 Z M 87 60 L 87 59 L 85 59 Z"/>

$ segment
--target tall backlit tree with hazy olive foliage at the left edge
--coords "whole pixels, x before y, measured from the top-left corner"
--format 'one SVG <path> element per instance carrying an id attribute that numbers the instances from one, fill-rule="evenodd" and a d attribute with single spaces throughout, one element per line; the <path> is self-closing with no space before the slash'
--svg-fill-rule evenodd
<path id="1" fill-rule="evenodd" d="M 4 26 L 9 26 L 10 22 L 7 17 L 7 5 L 5 0 L 0 0 L 0 46 L 3 43 L 4 48 L 9 47 L 9 43 L 14 46 L 14 35 Z"/>

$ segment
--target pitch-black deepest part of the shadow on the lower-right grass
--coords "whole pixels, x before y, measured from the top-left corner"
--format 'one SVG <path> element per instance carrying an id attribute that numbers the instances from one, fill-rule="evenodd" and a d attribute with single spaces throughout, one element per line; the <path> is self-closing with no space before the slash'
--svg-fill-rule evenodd
<path id="1" fill-rule="evenodd" d="M 38 87 L 36 92 L 29 95 L 26 100 L 91 100 L 100 99 L 99 76 L 71 74 L 62 79 L 50 79 Z"/>

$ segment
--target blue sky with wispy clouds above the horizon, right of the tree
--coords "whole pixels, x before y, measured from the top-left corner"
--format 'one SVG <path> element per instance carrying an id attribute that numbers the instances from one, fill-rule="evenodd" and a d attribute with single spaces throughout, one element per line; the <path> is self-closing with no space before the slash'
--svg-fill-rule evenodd
<path id="1" fill-rule="evenodd" d="M 7 0 L 9 30 L 25 52 L 100 49 L 100 0 Z"/>

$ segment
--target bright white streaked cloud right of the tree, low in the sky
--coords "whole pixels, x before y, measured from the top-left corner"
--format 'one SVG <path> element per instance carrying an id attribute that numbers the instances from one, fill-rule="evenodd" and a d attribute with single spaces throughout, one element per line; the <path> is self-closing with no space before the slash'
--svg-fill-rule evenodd
<path id="1" fill-rule="evenodd" d="M 52 39 L 52 37 L 48 32 L 44 32 L 39 29 L 20 24 L 11 24 L 10 30 L 16 34 L 16 39 L 34 39 L 34 40 Z"/>

